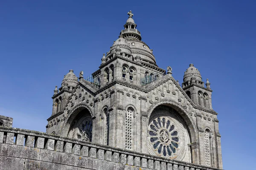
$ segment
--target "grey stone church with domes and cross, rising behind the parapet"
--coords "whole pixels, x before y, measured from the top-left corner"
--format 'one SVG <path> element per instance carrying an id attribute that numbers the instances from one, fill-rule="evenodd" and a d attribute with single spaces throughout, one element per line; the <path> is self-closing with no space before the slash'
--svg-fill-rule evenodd
<path id="1" fill-rule="evenodd" d="M 48 134 L 222 169 L 212 89 L 193 64 L 183 83 L 159 68 L 133 14 L 89 78 L 70 70 L 55 88 Z"/>

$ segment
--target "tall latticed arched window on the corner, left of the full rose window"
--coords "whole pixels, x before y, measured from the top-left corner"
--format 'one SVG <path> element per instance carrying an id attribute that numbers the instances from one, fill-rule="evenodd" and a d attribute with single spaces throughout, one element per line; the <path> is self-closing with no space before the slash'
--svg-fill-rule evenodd
<path id="1" fill-rule="evenodd" d="M 128 108 L 125 116 L 125 149 L 133 149 L 133 120 L 134 109 Z"/>

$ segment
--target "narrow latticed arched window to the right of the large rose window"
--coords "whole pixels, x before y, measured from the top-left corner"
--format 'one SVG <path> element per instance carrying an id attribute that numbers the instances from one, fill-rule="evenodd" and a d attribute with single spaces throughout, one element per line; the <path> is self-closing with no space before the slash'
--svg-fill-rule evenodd
<path id="1" fill-rule="evenodd" d="M 209 129 L 205 130 L 204 133 L 204 160 L 206 166 L 211 166 L 211 141 Z"/>

